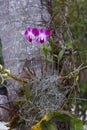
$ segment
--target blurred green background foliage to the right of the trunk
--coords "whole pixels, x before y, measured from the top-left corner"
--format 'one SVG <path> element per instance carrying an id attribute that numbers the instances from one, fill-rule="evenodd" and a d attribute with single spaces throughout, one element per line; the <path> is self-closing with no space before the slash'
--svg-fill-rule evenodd
<path id="1" fill-rule="evenodd" d="M 64 21 L 65 5 L 68 8 L 68 14 Z M 77 64 L 87 66 L 87 1 L 86 0 L 54 0 L 53 12 L 54 24 L 59 33 L 59 28 L 63 28 L 64 43 L 78 50 L 79 59 Z M 64 25 L 65 24 L 65 25 Z M 75 113 L 86 120 L 87 111 L 87 69 L 81 71 L 79 78 L 79 92 L 76 94 Z"/>

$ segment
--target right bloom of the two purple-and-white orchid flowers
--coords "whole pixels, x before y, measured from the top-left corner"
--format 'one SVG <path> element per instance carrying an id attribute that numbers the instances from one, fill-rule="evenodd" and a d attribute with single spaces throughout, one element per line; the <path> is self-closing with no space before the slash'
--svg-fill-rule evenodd
<path id="1" fill-rule="evenodd" d="M 48 38 L 50 37 L 50 30 L 40 29 L 39 35 L 37 36 L 36 42 L 41 44 L 49 43 Z"/>

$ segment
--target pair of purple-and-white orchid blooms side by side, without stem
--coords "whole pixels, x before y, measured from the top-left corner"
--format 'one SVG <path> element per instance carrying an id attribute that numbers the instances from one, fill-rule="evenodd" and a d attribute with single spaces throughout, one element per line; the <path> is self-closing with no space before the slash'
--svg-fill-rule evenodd
<path id="1" fill-rule="evenodd" d="M 25 31 L 26 39 L 31 43 L 49 44 L 50 30 L 45 30 L 43 28 L 30 28 L 28 27 Z"/>

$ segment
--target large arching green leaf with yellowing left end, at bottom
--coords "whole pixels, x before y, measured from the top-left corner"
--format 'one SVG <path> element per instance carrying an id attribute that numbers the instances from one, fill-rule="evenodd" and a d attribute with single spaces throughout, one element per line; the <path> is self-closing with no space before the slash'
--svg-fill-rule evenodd
<path id="1" fill-rule="evenodd" d="M 83 123 L 76 115 L 65 111 L 48 112 L 32 130 L 57 130 L 56 122 L 68 122 L 70 130 L 83 130 Z"/>

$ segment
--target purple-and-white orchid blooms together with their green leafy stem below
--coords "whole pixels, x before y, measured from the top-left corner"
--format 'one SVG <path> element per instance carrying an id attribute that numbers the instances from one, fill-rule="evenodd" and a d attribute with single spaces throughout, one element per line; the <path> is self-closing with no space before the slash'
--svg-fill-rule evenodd
<path id="1" fill-rule="evenodd" d="M 38 44 L 40 46 L 40 49 L 45 56 L 46 68 L 47 68 L 48 55 L 52 50 L 51 43 L 50 43 L 51 31 L 43 28 L 37 29 L 37 28 L 28 27 L 24 34 L 28 42 L 33 44 L 35 43 L 35 45 Z"/>

